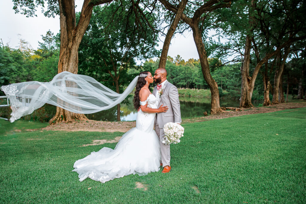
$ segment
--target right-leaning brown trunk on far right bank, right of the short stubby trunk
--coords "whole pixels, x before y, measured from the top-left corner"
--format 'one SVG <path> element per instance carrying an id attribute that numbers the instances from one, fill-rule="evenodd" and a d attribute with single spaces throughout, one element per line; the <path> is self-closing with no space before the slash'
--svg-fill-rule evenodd
<path id="1" fill-rule="evenodd" d="M 272 99 L 272 104 L 278 104 L 279 103 L 279 84 L 280 80 L 284 71 L 286 59 L 288 57 L 288 54 L 290 52 L 290 44 L 285 48 L 285 54 L 283 58 L 279 58 L 279 60 L 282 60 L 280 63 L 280 66 L 278 69 L 275 71 L 275 77 L 274 77 L 274 88 L 273 88 L 273 99 Z"/>

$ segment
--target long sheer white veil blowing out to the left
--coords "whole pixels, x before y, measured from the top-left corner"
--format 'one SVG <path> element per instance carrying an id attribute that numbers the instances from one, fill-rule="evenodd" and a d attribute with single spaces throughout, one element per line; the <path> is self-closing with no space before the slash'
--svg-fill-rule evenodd
<path id="1" fill-rule="evenodd" d="M 10 100 L 11 122 L 33 113 L 45 103 L 74 113 L 96 113 L 122 102 L 136 86 L 136 76 L 122 94 L 107 88 L 90 76 L 61 72 L 50 82 L 30 81 L 2 86 Z"/>

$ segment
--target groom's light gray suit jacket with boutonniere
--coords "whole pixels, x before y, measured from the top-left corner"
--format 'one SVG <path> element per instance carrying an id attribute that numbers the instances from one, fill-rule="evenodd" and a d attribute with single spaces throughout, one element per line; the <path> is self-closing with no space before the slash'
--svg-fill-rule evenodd
<path id="1" fill-rule="evenodd" d="M 162 91 L 161 96 L 157 95 L 157 97 L 160 97 L 157 108 L 164 104 L 163 106 L 168 106 L 169 109 L 167 112 L 157 113 L 155 124 L 158 124 L 159 128 L 163 128 L 168 122 L 181 123 L 181 109 L 177 87 L 170 82 L 166 82 L 162 87 Z M 153 94 L 156 95 L 156 92 L 157 86 L 154 87 Z"/>

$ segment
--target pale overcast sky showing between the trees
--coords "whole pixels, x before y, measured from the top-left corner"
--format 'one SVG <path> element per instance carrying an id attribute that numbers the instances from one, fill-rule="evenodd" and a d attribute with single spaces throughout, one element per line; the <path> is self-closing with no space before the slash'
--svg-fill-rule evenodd
<path id="1" fill-rule="evenodd" d="M 83 0 L 76 0 L 76 12 L 82 8 Z M 45 35 L 50 29 L 51 32 L 59 32 L 59 16 L 55 18 L 47 18 L 43 16 L 40 9 L 37 9 L 37 17 L 25 17 L 22 14 L 16 13 L 13 10 L 13 2 L 11 0 L 0 1 L 0 38 L 3 44 L 9 44 L 11 48 L 18 48 L 19 39 L 18 34 L 22 39 L 29 42 L 33 49 L 37 49 L 38 41 L 42 42 L 40 35 Z M 162 38 L 163 40 L 163 38 Z M 158 49 L 162 49 L 162 42 L 159 43 Z M 196 51 L 196 46 L 192 38 L 192 33 L 186 33 L 185 37 L 182 35 L 175 35 L 171 40 L 171 45 L 168 55 L 176 57 L 181 55 L 184 60 L 189 58 L 198 59 L 199 55 Z"/>

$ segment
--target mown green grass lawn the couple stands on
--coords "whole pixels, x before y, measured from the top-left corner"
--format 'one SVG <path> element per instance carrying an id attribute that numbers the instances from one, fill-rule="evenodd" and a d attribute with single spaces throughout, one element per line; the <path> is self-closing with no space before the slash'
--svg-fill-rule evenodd
<path id="1" fill-rule="evenodd" d="M 171 145 L 170 173 L 105 184 L 78 181 L 73 163 L 116 144 L 81 145 L 122 133 L 2 135 L 0 203 L 304 203 L 305 124 L 306 108 L 183 124 L 185 136 Z"/>

